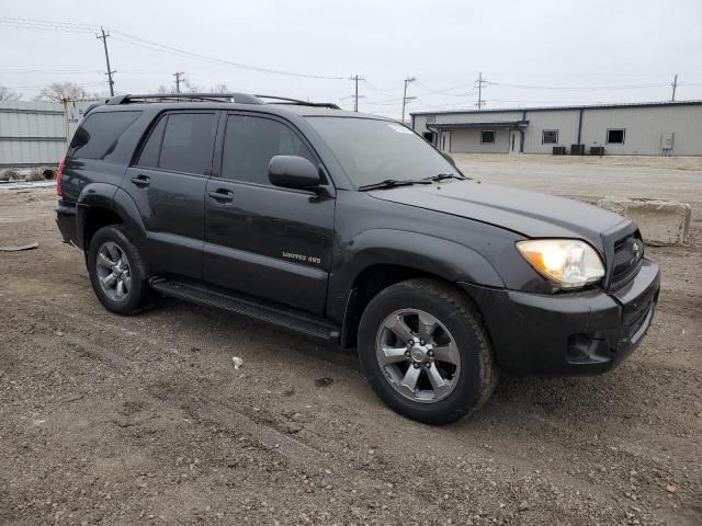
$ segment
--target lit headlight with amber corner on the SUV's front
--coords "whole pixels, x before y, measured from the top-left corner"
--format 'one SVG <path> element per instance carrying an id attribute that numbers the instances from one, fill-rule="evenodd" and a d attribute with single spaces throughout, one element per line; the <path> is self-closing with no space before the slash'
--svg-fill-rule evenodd
<path id="1" fill-rule="evenodd" d="M 519 241 L 517 248 L 540 274 L 561 288 L 578 288 L 604 276 L 597 251 L 577 239 Z"/>

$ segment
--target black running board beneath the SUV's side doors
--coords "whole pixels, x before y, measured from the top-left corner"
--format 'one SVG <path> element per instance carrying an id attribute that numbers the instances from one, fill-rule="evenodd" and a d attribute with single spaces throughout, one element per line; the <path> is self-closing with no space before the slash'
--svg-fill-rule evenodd
<path id="1" fill-rule="evenodd" d="M 154 290 L 159 291 L 163 296 L 182 299 L 203 307 L 225 310 L 235 315 L 248 316 L 249 318 L 317 340 L 339 340 L 341 331 L 339 327 L 321 318 L 316 318 L 293 309 L 265 305 L 250 298 L 214 290 L 203 285 L 163 277 L 151 278 L 149 285 Z"/>

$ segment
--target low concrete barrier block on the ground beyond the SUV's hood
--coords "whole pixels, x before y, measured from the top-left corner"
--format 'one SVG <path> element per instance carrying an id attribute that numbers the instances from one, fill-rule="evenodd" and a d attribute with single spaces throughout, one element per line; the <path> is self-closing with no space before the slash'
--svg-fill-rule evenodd
<path id="1" fill-rule="evenodd" d="M 636 221 L 648 244 L 683 244 L 688 240 L 692 208 L 687 203 L 604 197 L 597 206 Z"/>

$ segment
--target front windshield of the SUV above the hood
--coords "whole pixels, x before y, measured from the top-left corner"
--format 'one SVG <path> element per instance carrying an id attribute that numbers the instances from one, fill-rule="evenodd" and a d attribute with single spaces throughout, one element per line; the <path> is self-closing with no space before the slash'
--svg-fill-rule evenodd
<path id="1" fill-rule="evenodd" d="M 356 186 L 460 175 L 424 139 L 401 124 L 355 117 L 307 117 Z"/>

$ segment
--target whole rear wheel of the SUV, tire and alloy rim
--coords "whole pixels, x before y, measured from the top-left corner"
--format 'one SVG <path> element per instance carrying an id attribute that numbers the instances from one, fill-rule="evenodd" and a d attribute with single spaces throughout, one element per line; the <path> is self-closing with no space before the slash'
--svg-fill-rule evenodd
<path id="1" fill-rule="evenodd" d="M 118 268 L 111 268 L 110 263 L 117 264 Z M 94 233 L 86 253 L 86 264 L 95 296 L 109 311 L 129 315 L 149 301 L 146 266 L 122 225 L 102 227 Z"/>

